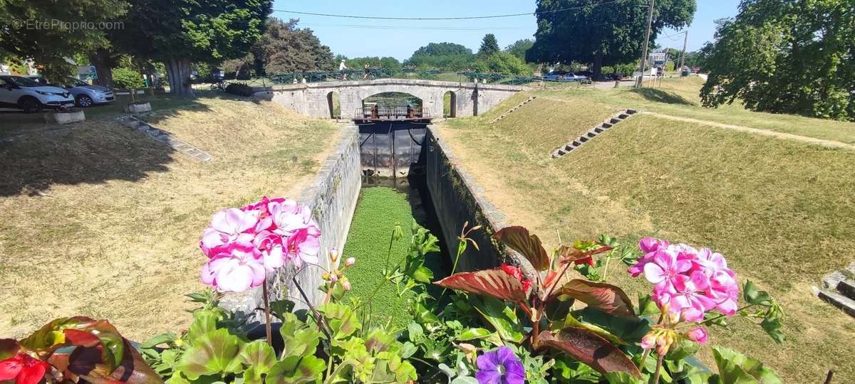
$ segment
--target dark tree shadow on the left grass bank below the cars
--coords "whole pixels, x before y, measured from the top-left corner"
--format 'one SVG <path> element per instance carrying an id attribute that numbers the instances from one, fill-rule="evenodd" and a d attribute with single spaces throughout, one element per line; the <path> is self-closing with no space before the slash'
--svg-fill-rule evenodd
<path id="1" fill-rule="evenodd" d="M 44 195 L 57 184 L 137 182 L 166 172 L 173 152 L 113 122 L 27 135 L 0 143 L 0 196 Z"/>

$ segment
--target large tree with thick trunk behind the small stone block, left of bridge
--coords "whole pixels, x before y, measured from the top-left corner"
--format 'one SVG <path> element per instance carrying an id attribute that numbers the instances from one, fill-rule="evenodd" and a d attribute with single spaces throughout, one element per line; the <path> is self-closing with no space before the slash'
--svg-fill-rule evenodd
<path id="1" fill-rule="evenodd" d="M 243 57 L 264 32 L 269 0 L 135 0 L 111 40 L 134 56 L 166 65 L 169 89 L 192 95 L 190 64 Z"/>

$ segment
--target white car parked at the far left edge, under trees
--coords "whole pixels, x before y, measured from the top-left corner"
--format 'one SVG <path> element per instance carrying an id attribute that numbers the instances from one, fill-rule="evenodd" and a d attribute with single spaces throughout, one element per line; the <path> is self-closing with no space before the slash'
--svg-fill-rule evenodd
<path id="1" fill-rule="evenodd" d="M 21 76 L 0 76 L 0 108 L 36 113 L 44 108 L 74 107 L 74 96 L 68 90 Z"/>

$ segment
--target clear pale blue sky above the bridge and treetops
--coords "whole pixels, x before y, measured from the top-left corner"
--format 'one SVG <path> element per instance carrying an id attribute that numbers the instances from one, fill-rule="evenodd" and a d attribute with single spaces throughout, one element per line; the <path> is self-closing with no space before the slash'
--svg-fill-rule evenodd
<path id="1" fill-rule="evenodd" d="M 692 26 L 688 27 L 688 49 L 699 49 L 711 41 L 716 19 L 736 15 L 739 0 L 698 0 Z M 383 17 L 453 17 L 505 15 L 534 12 L 534 0 L 428 0 L 428 1 L 332 1 L 276 0 L 274 9 L 339 15 Z M 280 19 L 298 18 L 300 26 L 310 27 L 336 54 L 392 56 L 404 60 L 428 43 L 452 42 L 473 50 L 486 33 L 493 33 L 504 46 L 522 38 L 532 38 L 536 30 L 534 15 L 485 20 L 359 20 L 337 17 L 295 15 L 274 11 Z M 657 40 L 663 46 L 681 48 L 683 36 L 665 31 Z M 671 36 L 668 38 L 666 35 Z"/>

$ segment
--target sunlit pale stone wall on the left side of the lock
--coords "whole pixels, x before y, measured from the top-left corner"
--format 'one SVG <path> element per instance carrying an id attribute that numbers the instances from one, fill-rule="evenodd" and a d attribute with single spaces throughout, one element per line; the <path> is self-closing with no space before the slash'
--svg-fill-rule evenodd
<path id="1" fill-rule="evenodd" d="M 359 131 L 356 125 L 349 125 L 343 131 L 337 148 L 321 166 L 314 182 L 298 197 L 298 201 L 311 208 L 312 217 L 321 229 L 321 251 L 318 258 L 323 269 L 304 266 L 297 275 L 300 286 L 315 305 L 323 300 L 317 287 L 321 285 L 321 274 L 331 266 L 327 254 L 332 247 L 345 247 L 362 185 Z M 278 300 L 287 294 L 289 300 L 297 303 L 298 309 L 306 308 L 303 297 L 292 283 L 292 271 L 277 271 L 268 276 L 268 284 L 270 300 Z M 258 287 L 242 294 L 228 294 L 221 300 L 221 305 L 228 310 L 250 313 L 254 308 L 262 306 L 262 288 Z M 263 316 L 258 312 L 252 318 L 263 323 Z"/>

